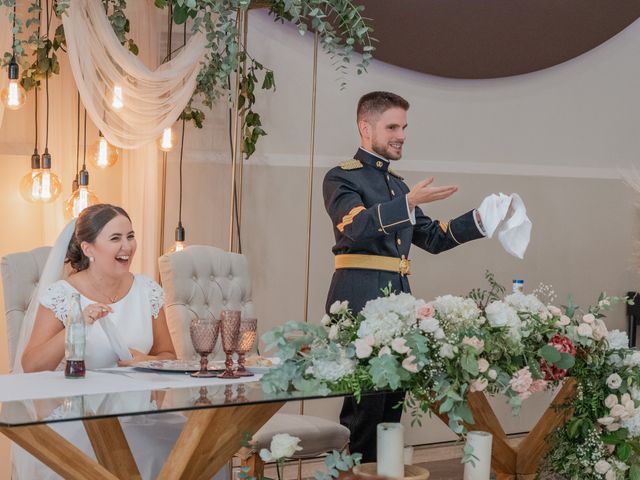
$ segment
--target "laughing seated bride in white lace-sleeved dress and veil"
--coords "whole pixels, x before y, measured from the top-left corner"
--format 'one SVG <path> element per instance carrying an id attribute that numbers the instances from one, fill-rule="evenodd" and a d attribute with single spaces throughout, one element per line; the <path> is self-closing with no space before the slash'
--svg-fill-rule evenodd
<path id="1" fill-rule="evenodd" d="M 65 228 L 49 254 L 25 315 L 14 372 L 64 368 L 65 321 L 71 294 L 76 292 L 87 323 L 88 370 L 148 359 L 175 359 L 162 309 L 162 288 L 146 276 L 129 272 L 135 252 L 131 220 L 122 208 L 99 204 L 83 210 L 75 224 Z M 64 279 L 63 263 L 72 269 Z M 127 359 L 118 357 L 102 329 L 101 319 L 107 316 L 128 347 Z M 144 401 L 149 403 L 150 399 Z M 120 421 L 142 478 L 155 478 L 178 438 L 184 417 L 155 414 L 122 417 Z M 50 426 L 95 458 L 81 422 Z M 223 474 L 221 471 L 218 476 Z M 17 446 L 13 447 L 13 475 L 16 479 L 61 478 Z"/>

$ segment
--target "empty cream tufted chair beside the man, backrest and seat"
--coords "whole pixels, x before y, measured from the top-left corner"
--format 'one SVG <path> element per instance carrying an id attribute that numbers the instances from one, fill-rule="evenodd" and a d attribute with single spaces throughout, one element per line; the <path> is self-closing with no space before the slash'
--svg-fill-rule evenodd
<path id="1" fill-rule="evenodd" d="M 193 245 L 163 255 L 159 260 L 165 291 L 165 314 L 178 358 L 195 358 L 189 323 L 194 315 L 211 312 L 220 318 L 224 308 L 242 310 L 255 317 L 251 301 L 251 277 L 244 255 L 219 248 Z M 276 433 L 289 433 L 301 440 L 303 450 L 294 458 L 314 458 L 330 450 L 343 450 L 349 430 L 337 422 L 310 415 L 275 414 L 253 437 L 252 448 L 240 452 L 250 475 L 262 477 L 264 464 L 257 452 L 269 448 Z"/>

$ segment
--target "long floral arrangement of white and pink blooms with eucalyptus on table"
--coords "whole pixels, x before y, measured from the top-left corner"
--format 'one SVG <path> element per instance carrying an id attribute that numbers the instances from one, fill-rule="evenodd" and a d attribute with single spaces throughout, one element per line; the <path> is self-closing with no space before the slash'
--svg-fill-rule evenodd
<path id="1" fill-rule="evenodd" d="M 585 310 L 571 299 L 557 307 L 552 292 L 505 296 L 491 273 L 487 280 L 488 290 L 430 302 L 387 289 L 357 315 L 336 302 L 321 325 L 277 327 L 264 340 L 281 363 L 262 387 L 356 397 L 403 389 L 414 423 L 436 409 L 464 436 L 473 423 L 469 392 L 503 394 L 517 414 L 533 393 L 570 375 L 574 413 L 552 439 L 547 468 L 567 478 L 640 479 L 640 352 L 602 320 L 625 299 L 601 294 Z M 472 458 L 465 451 L 463 461 Z"/>

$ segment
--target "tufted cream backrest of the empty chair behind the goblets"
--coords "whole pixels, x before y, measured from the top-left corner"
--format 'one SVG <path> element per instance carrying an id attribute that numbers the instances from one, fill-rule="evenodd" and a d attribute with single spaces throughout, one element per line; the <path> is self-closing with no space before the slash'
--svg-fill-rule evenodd
<path id="1" fill-rule="evenodd" d="M 158 260 L 165 292 L 165 314 L 180 359 L 197 358 L 189 324 L 196 315 L 220 318 L 224 309 L 254 318 L 249 265 L 244 255 L 191 245 Z"/>

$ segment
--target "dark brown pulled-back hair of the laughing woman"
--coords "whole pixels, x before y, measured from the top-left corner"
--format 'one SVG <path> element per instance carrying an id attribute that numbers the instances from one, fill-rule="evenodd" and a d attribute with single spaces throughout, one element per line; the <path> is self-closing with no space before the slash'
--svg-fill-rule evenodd
<path id="1" fill-rule="evenodd" d="M 80 245 L 82 242 L 95 242 L 104 226 L 118 215 L 124 215 L 131 221 L 129 214 L 123 208 L 108 203 L 99 203 L 85 208 L 76 220 L 76 228 L 69 241 L 65 263 L 71 265 L 76 272 L 89 268 L 89 257 L 84 254 Z"/>

